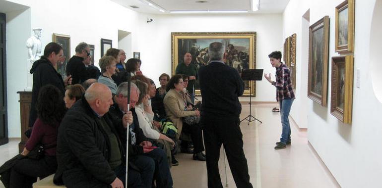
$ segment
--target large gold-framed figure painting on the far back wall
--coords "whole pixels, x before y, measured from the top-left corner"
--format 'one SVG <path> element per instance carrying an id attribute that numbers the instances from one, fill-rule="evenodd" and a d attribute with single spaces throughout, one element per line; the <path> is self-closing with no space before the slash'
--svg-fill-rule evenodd
<path id="1" fill-rule="evenodd" d="M 239 73 L 242 69 L 256 68 L 256 32 L 187 32 L 171 33 L 171 73 L 179 63 L 184 62 L 184 54 L 190 52 L 191 63 L 199 69 L 208 64 L 208 46 L 213 42 L 221 42 L 225 46 L 224 62 Z M 256 94 L 255 82 L 244 81 L 244 95 Z M 251 91 L 250 91 L 251 84 Z M 199 83 L 196 80 L 195 94 L 200 95 Z"/>

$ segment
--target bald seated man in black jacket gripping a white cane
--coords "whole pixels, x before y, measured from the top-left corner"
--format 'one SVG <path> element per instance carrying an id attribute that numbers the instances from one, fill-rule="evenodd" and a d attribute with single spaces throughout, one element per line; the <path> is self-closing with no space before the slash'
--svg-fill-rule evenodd
<path id="1" fill-rule="evenodd" d="M 124 187 L 125 150 L 117 133 L 132 123 L 132 114 L 117 123 L 108 113 L 112 104 L 110 89 L 94 83 L 66 112 L 57 140 L 55 184 Z"/>

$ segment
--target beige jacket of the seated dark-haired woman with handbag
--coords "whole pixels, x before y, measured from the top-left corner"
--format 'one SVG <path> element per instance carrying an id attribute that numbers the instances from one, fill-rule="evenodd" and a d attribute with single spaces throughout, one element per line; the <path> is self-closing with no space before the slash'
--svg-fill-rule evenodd
<path id="1" fill-rule="evenodd" d="M 178 128 L 178 134 L 182 135 L 182 117 L 195 115 L 194 111 L 185 111 L 185 102 L 182 97 L 182 94 L 171 89 L 167 92 L 166 96 L 163 99 L 165 105 L 166 115 L 171 119 L 174 126 Z"/>

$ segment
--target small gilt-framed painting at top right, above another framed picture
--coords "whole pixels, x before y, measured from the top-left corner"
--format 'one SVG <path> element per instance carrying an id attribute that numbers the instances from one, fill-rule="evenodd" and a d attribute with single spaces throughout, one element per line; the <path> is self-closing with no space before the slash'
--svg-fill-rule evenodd
<path id="1" fill-rule="evenodd" d="M 335 51 L 354 52 L 354 0 L 345 0 L 335 7 Z"/>

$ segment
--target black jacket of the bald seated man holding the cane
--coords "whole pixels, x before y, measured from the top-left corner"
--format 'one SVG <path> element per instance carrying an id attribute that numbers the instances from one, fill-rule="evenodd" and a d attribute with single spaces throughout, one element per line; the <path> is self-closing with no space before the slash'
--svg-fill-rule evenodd
<path id="1" fill-rule="evenodd" d="M 117 135 L 121 160 L 125 163 L 125 151 L 116 131 L 116 127 L 123 125 L 114 121 L 108 113 L 103 118 Z M 84 97 L 66 112 L 57 139 L 55 184 L 86 187 L 85 181 L 94 180 L 109 185 L 115 180 L 116 174 L 108 163 L 111 154 L 109 137 L 99 121 L 100 118 Z"/>

